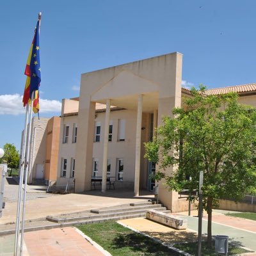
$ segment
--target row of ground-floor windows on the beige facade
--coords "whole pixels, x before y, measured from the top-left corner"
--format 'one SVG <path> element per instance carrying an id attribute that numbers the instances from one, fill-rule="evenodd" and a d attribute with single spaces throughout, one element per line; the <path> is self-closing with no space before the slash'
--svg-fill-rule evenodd
<path id="1" fill-rule="evenodd" d="M 62 157 L 61 158 L 61 177 L 71 177 L 74 178 L 75 174 L 75 164 L 76 159 L 71 158 L 70 159 L 70 173 L 67 175 L 67 158 Z M 111 175 L 111 159 L 108 159 L 108 167 L 107 167 L 107 175 Z M 118 158 L 116 159 L 116 180 L 123 180 L 124 175 L 124 159 Z M 99 159 L 93 158 L 93 164 L 92 164 L 92 177 L 98 177 L 99 176 Z"/>

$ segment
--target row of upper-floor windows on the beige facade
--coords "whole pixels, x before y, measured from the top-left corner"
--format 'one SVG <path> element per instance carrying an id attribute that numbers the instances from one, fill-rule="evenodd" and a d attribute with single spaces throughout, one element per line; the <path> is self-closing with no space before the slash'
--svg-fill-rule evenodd
<path id="1" fill-rule="evenodd" d="M 68 136 L 70 133 L 69 125 L 64 125 L 63 127 L 63 143 L 68 143 Z M 108 141 L 112 141 L 113 135 L 113 121 L 109 122 L 109 133 Z M 73 124 L 72 131 L 72 143 L 76 143 L 77 140 L 77 124 Z M 118 141 L 125 140 L 125 119 L 118 120 Z M 94 132 L 94 141 L 100 141 L 100 122 L 95 122 L 95 132 Z"/>

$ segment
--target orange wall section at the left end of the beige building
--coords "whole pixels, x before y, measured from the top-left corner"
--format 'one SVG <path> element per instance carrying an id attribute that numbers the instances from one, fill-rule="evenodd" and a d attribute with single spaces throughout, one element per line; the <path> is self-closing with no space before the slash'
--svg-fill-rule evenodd
<path id="1" fill-rule="evenodd" d="M 56 180 L 60 145 L 60 117 L 53 116 L 46 127 L 45 180 Z"/>

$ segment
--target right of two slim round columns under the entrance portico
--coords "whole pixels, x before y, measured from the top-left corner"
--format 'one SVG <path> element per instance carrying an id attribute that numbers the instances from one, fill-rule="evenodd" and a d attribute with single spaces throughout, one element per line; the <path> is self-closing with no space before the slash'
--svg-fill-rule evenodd
<path id="1" fill-rule="evenodd" d="M 142 120 L 142 95 L 140 94 L 138 96 L 138 110 L 137 110 L 137 124 L 136 124 L 134 196 L 138 196 L 139 190 L 140 190 L 141 120 Z"/>

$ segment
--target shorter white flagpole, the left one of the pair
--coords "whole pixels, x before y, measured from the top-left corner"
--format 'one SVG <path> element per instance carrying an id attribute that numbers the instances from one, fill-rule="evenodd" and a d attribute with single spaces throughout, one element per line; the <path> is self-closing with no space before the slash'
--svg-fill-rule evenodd
<path id="1" fill-rule="evenodd" d="M 22 138 L 22 154 L 21 154 L 21 164 L 20 164 L 20 179 L 19 179 L 19 195 L 17 202 L 17 216 L 16 216 L 16 225 L 15 225 L 15 243 L 14 243 L 14 255 L 18 255 L 19 250 L 19 233 L 20 233 L 20 204 L 22 198 L 22 185 L 23 185 L 23 177 L 24 177 L 24 163 L 25 163 L 25 150 L 26 150 L 26 140 L 27 140 L 27 129 L 28 129 L 28 112 L 29 105 L 26 106 L 26 117 Z"/>

